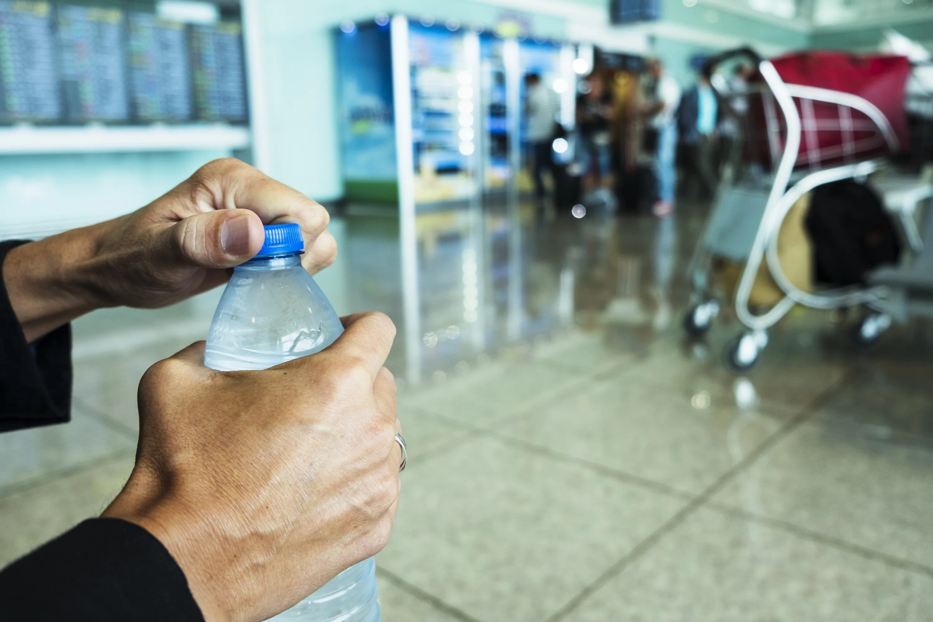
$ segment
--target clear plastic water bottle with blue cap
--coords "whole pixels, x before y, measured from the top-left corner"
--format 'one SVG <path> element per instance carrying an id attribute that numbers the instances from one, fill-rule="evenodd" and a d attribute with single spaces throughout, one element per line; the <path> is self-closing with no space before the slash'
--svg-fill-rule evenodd
<path id="1" fill-rule="evenodd" d="M 233 269 L 214 314 L 204 364 L 265 369 L 327 348 L 343 332 L 333 306 L 301 266 L 299 225 L 269 225 L 258 255 Z M 376 565 L 363 560 L 273 620 L 379 622 Z"/>

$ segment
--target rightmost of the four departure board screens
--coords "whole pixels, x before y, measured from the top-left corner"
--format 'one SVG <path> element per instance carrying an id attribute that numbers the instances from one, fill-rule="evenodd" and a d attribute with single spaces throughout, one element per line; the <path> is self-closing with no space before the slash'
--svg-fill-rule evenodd
<path id="1" fill-rule="evenodd" d="M 201 120 L 247 120 L 242 31 L 235 21 L 191 27 L 194 101 Z"/>

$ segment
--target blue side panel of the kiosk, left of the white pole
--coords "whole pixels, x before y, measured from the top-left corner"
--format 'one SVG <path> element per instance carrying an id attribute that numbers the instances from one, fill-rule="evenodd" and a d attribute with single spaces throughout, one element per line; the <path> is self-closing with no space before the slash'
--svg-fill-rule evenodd
<path id="1" fill-rule="evenodd" d="M 395 110 L 388 26 L 338 31 L 341 163 L 349 195 L 397 198 Z"/>

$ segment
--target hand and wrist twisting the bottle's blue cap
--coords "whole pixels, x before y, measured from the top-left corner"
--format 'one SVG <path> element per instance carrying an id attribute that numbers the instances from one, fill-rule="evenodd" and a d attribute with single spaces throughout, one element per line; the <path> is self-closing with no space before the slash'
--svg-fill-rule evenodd
<path id="1" fill-rule="evenodd" d="M 262 247 L 262 226 L 299 223 L 304 267 L 337 255 L 327 210 L 237 159 L 217 159 L 146 207 L 14 248 L 3 276 L 33 340 L 101 307 L 164 307 L 211 289 Z"/>

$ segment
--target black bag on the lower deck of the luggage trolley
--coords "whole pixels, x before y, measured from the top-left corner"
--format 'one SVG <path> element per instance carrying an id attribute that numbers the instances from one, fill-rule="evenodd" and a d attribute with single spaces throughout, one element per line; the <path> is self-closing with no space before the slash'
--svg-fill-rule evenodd
<path id="1" fill-rule="evenodd" d="M 898 234 L 882 200 L 855 180 L 816 187 L 805 226 L 819 283 L 864 284 L 870 270 L 898 262 Z"/>

